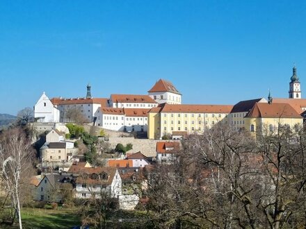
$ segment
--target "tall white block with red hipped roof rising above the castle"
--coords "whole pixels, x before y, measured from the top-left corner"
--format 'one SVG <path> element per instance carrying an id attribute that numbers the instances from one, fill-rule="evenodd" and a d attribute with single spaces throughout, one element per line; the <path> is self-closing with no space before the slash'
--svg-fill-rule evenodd
<path id="1" fill-rule="evenodd" d="M 149 96 L 157 103 L 182 103 L 182 94 L 167 80 L 160 79 L 148 92 Z"/>

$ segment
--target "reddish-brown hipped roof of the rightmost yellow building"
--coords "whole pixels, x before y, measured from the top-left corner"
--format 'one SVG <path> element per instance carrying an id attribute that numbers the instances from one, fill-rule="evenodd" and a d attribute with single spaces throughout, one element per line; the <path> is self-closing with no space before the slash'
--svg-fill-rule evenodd
<path id="1" fill-rule="evenodd" d="M 303 119 L 288 103 L 255 103 L 245 117 Z"/>

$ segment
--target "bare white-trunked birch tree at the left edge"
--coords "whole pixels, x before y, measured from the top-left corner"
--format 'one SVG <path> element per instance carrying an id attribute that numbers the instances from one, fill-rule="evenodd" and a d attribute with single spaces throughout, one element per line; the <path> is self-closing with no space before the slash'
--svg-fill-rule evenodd
<path id="1" fill-rule="evenodd" d="M 8 130 L 1 135 L 0 165 L 6 192 L 11 198 L 14 216 L 18 218 L 19 228 L 22 228 L 20 200 L 24 176 L 32 168 L 32 159 L 35 153 L 29 139 L 19 128 Z M 14 219 L 14 218 L 13 218 Z"/>

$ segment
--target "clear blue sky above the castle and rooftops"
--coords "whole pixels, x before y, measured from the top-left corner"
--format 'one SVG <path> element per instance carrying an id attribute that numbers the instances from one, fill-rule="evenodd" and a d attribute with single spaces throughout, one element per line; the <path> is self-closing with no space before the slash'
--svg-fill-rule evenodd
<path id="1" fill-rule="evenodd" d="M 306 1 L 0 1 L 0 113 L 54 96 L 147 94 L 183 103 L 306 98 Z M 303 90 L 304 94 L 303 94 Z"/>

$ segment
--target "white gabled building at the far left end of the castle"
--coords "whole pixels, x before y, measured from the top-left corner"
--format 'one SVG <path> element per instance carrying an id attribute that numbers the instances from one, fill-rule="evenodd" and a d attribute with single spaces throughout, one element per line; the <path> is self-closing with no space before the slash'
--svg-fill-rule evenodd
<path id="1" fill-rule="evenodd" d="M 60 111 L 51 103 L 45 92 L 34 105 L 34 117 L 38 122 L 58 122 Z"/>

